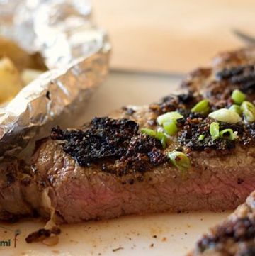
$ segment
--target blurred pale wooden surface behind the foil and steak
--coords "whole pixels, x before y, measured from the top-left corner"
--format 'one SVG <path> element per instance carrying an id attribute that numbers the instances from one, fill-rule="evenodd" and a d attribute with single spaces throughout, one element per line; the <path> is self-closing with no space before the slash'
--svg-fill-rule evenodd
<path id="1" fill-rule="evenodd" d="M 94 18 L 113 44 L 111 67 L 188 72 L 222 50 L 244 46 L 232 29 L 255 36 L 252 0 L 93 0 Z"/>

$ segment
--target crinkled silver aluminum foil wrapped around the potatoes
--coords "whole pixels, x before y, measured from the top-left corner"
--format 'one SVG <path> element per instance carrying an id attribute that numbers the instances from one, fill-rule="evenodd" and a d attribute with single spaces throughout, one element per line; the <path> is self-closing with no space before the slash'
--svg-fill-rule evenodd
<path id="1" fill-rule="evenodd" d="M 0 108 L 2 158 L 26 155 L 55 124 L 74 125 L 108 73 L 110 44 L 86 0 L 0 0 L 0 24 L 0 35 L 40 52 L 50 69 Z"/>

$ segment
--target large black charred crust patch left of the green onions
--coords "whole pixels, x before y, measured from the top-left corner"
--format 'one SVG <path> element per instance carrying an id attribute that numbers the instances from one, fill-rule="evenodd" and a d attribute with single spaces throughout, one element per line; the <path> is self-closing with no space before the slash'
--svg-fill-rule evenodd
<path id="1" fill-rule="evenodd" d="M 79 165 L 86 167 L 106 160 L 102 170 L 121 176 L 145 172 L 167 160 L 161 143 L 138 130 L 135 121 L 125 118 L 94 118 L 84 130 L 52 128 L 51 138 L 62 140 L 64 152 Z"/>

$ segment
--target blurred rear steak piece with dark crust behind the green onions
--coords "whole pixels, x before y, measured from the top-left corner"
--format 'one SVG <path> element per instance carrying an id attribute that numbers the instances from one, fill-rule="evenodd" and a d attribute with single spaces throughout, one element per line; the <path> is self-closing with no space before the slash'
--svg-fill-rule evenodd
<path id="1" fill-rule="evenodd" d="M 234 89 L 241 89 L 248 99 L 255 99 L 255 49 L 244 48 L 223 52 L 215 57 L 211 68 L 200 68 L 191 72 L 182 82 L 182 87 L 200 91 L 205 97 L 218 101 L 229 99 Z"/>

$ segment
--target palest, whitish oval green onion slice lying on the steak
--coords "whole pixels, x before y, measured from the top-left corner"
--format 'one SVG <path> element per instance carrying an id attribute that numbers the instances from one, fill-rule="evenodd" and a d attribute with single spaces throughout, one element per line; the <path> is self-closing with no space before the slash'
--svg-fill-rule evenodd
<path id="1" fill-rule="evenodd" d="M 239 121 L 242 120 L 242 118 L 240 118 L 238 113 L 232 110 L 229 110 L 227 108 L 220 108 L 216 111 L 213 111 L 212 113 L 209 114 L 209 117 L 217 121 L 222 121 L 226 123 L 238 123 Z"/>

